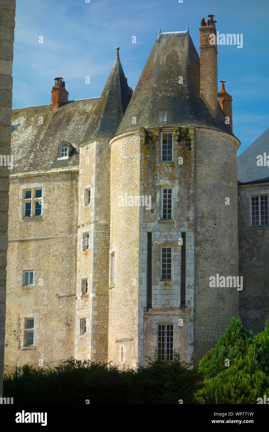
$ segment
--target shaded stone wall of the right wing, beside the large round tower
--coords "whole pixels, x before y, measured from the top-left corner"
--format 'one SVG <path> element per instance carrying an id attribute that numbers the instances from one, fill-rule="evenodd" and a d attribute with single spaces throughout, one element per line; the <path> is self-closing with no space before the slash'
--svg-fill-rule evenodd
<path id="1" fill-rule="evenodd" d="M 251 226 L 251 196 L 268 195 L 269 184 L 238 186 L 239 294 L 244 327 L 258 334 L 269 319 L 269 226 Z"/>

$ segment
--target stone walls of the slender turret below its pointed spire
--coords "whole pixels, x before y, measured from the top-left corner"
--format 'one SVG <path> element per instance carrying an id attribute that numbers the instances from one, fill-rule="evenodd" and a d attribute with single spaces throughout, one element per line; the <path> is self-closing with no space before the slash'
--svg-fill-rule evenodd
<path id="1" fill-rule="evenodd" d="M 77 249 L 76 359 L 106 362 L 108 356 L 108 274 L 110 222 L 110 148 L 108 141 L 80 146 Z M 91 190 L 89 205 L 85 202 Z M 89 249 L 83 250 L 83 234 Z M 82 280 L 88 292 L 82 295 Z M 80 334 L 80 320 L 86 332 Z"/>

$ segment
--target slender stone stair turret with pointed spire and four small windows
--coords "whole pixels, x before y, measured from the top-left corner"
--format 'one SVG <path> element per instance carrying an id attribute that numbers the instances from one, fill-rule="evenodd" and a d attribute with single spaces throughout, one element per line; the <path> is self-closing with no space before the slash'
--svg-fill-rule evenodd
<path id="1" fill-rule="evenodd" d="M 110 148 L 131 92 L 120 64 L 114 66 L 79 152 L 75 358 L 105 361 L 108 355 Z"/>

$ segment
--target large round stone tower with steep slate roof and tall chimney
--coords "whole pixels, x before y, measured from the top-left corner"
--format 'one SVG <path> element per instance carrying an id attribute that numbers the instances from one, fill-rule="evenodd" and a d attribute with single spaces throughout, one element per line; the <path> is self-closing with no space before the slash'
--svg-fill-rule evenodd
<path id="1" fill-rule="evenodd" d="M 108 361 L 200 359 L 238 314 L 239 141 L 218 103 L 215 22 L 161 33 L 111 147 Z M 213 51 L 214 50 L 214 51 Z M 207 54 L 206 54 L 207 53 Z M 226 200 L 229 198 L 229 204 Z"/>

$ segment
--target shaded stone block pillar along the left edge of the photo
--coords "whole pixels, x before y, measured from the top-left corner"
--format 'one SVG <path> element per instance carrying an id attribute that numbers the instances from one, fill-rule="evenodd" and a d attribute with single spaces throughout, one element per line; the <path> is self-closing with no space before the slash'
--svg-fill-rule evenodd
<path id="1" fill-rule="evenodd" d="M 15 7 L 15 0 L 0 0 L 0 397 L 3 394 L 9 172 L 13 165 L 10 141 Z"/>

